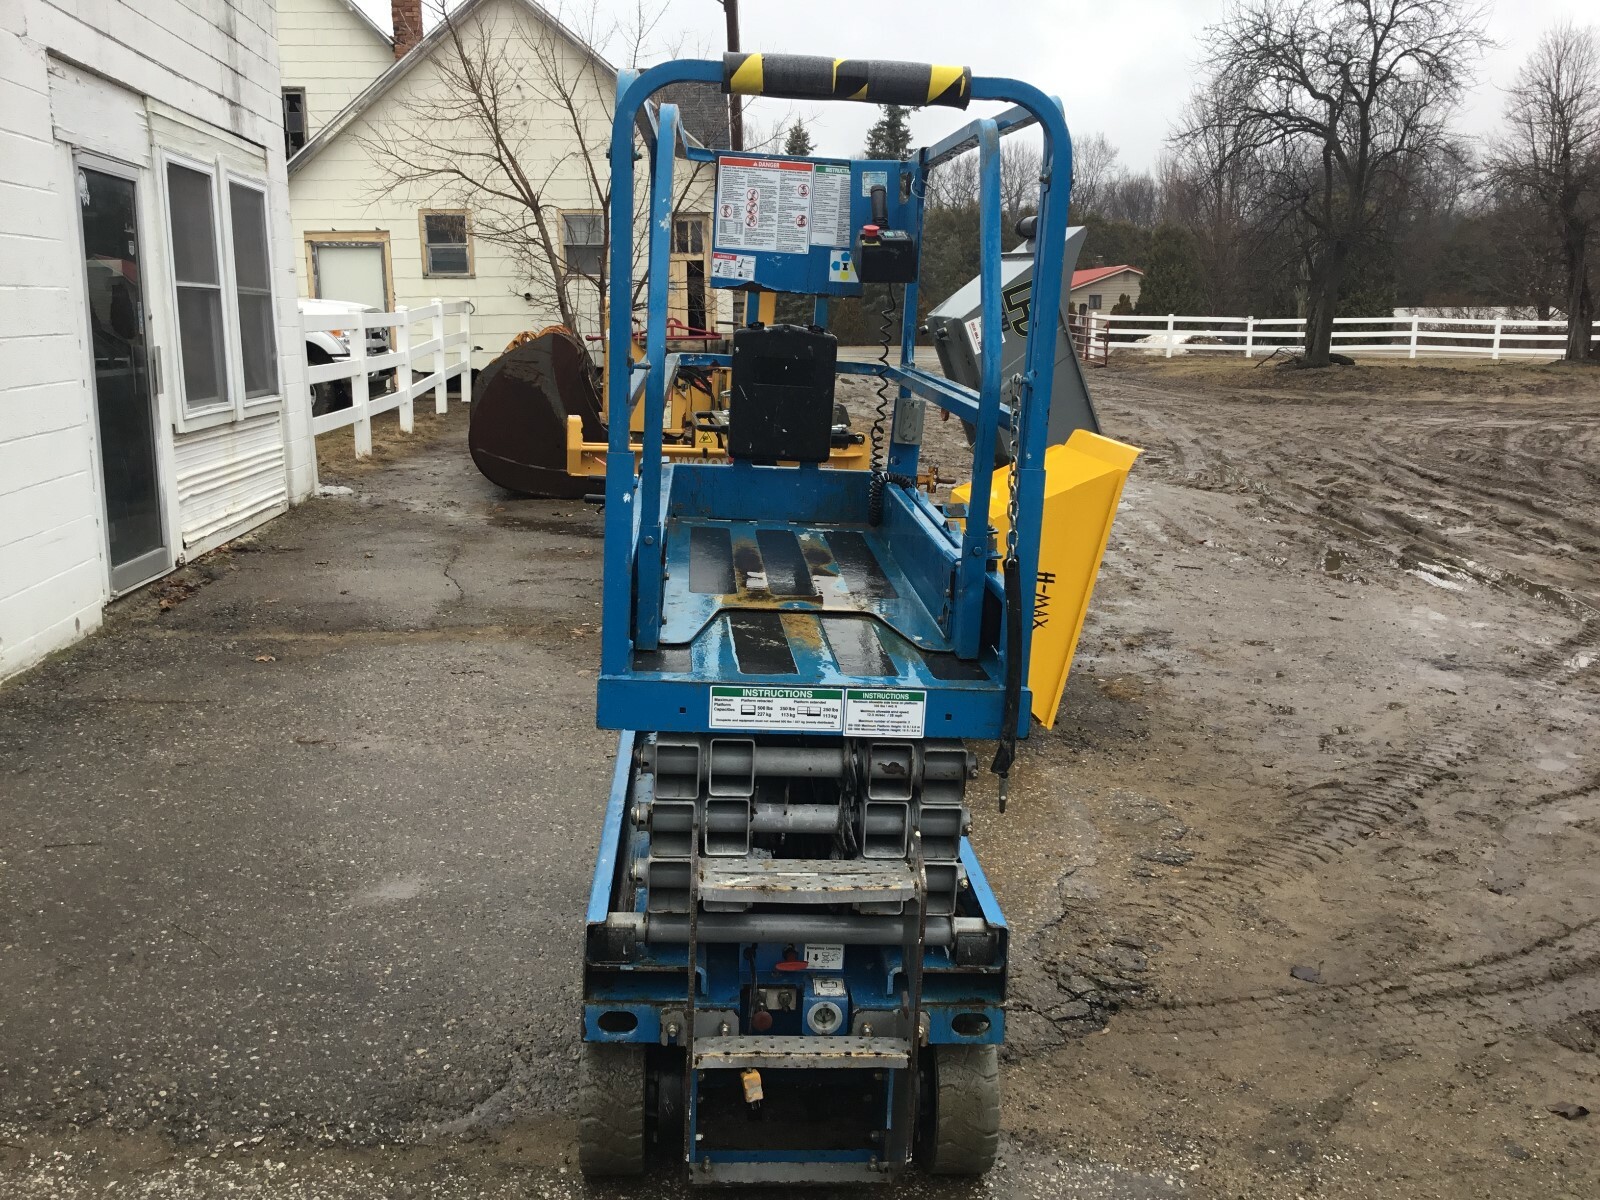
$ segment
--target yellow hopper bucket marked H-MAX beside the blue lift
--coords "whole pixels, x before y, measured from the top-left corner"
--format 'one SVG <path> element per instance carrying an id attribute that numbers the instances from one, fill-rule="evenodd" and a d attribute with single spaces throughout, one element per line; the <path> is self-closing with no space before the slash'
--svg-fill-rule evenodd
<path id="1" fill-rule="evenodd" d="M 1046 728 L 1056 723 L 1067 670 L 1083 632 L 1094 576 L 1110 539 L 1122 485 L 1142 451 L 1109 437 L 1078 429 L 1064 446 L 1045 451 L 1045 514 L 1040 522 L 1038 584 L 1034 592 L 1034 650 L 1027 686 L 1034 693 L 1034 717 Z M 1006 491 L 1011 469 L 995 472 L 989 490 L 989 523 L 1005 539 Z M 971 485 L 962 483 L 950 499 L 966 504 Z"/>

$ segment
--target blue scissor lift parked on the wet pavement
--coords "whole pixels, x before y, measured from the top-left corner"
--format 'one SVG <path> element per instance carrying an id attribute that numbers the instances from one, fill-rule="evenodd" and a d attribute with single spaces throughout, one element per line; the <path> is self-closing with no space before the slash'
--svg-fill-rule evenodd
<path id="1" fill-rule="evenodd" d="M 904 162 L 710 152 L 669 85 L 899 104 L 1006 104 Z M 643 115 L 643 120 L 640 120 Z M 966 840 L 971 739 L 1026 734 L 1024 686 L 1054 328 L 1003 309 L 1000 138 L 1043 134 L 1035 312 L 1058 312 L 1070 144 L 1058 101 L 962 67 L 728 54 L 624 72 L 611 139 L 610 411 L 643 403 L 643 453 L 613 419 L 598 723 L 621 730 L 589 899 L 581 1165 L 630 1174 L 654 1147 L 698 1182 L 851 1182 L 918 1162 L 976 1174 L 998 1134 L 1006 925 Z M 643 130 L 645 152 L 635 149 Z M 914 363 L 928 171 L 976 147 L 978 390 Z M 667 354 L 674 168 L 717 171 L 714 283 L 806 294 L 814 323 L 757 322 L 731 355 Z M 648 326 L 632 339 L 635 170 L 648 166 Z M 699 170 L 706 170 L 701 166 Z M 774 229 L 776 218 L 794 222 Z M 798 221 L 797 214 L 806 214 Z M 824 227 L 818 227 L 824 226 Z M 862 227 L 867 227 L 862 232 Z M 907 259 L 907 254 L 910 256 Z M 829 298 L 891 285 L 898 362 L 838 362 Z M 1013 299 L 1013 309 L 1014 298 Z M 726 461 L 664 466 L 683 368 L 731 366 Z M 837 374 L 891 411 L 874 470 L 832 470 Z M 928 403 L 974 427 L 973 514 L 995 438 L 1018 432 L 1014 544 L 915 488 Z M 819 432 L 821 430 L 821 432 Z M 821 446 L 821 453 L 818 453 Z"/>

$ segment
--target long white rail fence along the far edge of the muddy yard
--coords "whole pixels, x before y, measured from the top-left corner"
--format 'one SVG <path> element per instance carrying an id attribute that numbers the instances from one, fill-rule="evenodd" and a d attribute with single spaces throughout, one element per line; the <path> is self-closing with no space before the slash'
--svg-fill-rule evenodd
<path id="1" fill-rule="evenodd" d="M 1090 314 L 1096 347 L 1134 354 L 1243 354 L 1256 358 L 1306 344 L 1302 317 L 1133 317 Z M 1600 334 L 1595 334 L 1600 342 Z M 1416 358 L 1458 354 L 1485 358 L 1560 358 L 1565 320 L 1469 320 L 1464 317 L 1334 317 L 1338 354 Z"/>

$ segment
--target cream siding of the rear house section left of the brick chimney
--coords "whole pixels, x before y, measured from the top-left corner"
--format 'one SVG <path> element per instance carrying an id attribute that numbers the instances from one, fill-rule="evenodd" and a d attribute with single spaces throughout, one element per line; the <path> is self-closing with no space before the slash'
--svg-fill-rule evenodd
<path id="1" fill-rule="evenodd" d="M 394 61 L 389 40 L 346 0 L 278 0 L 283 86 L 306 88 L 310 136 Z"/>

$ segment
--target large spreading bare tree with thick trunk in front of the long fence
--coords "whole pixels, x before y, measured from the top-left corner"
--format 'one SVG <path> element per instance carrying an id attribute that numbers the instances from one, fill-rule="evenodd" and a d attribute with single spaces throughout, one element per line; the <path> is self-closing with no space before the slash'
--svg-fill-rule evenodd
<path id="1" fill-rule="evenodd" d="M 1301 234 L 1302 365 L 1328 365 L 1350 261 L 1445 138 L 1485 45 L 1483 11 L 1461 0 L 1237 0 L 1206 30 L 1208 85 L 1227 104 L 1178 141 L 1221 123 L 1261 155 Z"/>

